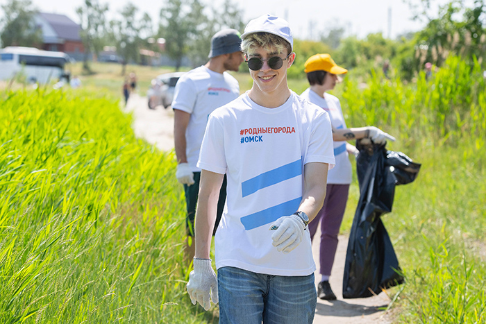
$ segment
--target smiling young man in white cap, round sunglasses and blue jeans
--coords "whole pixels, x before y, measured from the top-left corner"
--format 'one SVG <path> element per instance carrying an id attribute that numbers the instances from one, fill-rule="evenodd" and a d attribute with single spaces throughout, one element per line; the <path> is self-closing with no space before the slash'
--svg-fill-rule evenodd
<path id="1" fill-rule="evenodd" d="M 219 300 L 219 323 L 312 323 L 317 303 L 307 225 L 334 164 L 328 114 L 287 85 L 294 62 L 285 20 L 253 19 L 242 35 L 253 87 L 210 115 L 198 166 L 192 302 Z M 210 260 L 217 192 L 227 199 Z"/>

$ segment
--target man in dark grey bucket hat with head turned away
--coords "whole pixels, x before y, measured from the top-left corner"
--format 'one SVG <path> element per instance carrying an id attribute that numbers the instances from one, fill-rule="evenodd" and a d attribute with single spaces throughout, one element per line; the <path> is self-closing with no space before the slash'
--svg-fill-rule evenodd
<path id="1" fill-rule="evenodd" d="M 235 29 L 224 29 L 216 33 L 211 40 L 209 61 L 184 74 L 174 90 L 172 109 L 178 162 L 176 178 L 184 185 L 185 191 L 188 236 L 185 248 L 189 262 L 194 257 L 194 244 L 190 237 L 194 237 L 194 214 L 201 176 L 201 169 L 196 167 L 199 149 L 209 114 L 240 95 L 240 85 L 227 71 L 238 71 L 243 62 L 241 42 L 240 33 Z M 214 230 L 221 219 L 225 200 L 226 183 L 219 192 Z"/>

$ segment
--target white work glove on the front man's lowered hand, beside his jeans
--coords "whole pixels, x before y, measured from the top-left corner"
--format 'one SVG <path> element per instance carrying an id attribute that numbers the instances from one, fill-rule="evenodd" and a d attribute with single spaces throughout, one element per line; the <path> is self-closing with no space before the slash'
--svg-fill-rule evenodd
<path id="1" fill-rule="evenodd" d="M 199 302 L 208 310 L 211 307 L 210 297 L 212 302 L 218 303 L 218 282 L 210 259 L 194 257 L 194 270 L 189 274 L 186 287 L 193 305 Z"/>

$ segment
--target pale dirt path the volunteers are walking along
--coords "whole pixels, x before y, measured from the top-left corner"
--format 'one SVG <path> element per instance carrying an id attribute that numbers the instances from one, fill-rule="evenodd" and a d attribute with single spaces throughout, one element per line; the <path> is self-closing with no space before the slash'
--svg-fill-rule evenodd
<path id="1" fill-rule="evenodd" d="M 169 151 L 174 148 L 174 113 L 171 108 L 165 110 L 162 106 L 158 106 L 155 110 L 150 110 L 147 106 L 146 98 L 133 94 L 124 110 L 133 113 L 133 130 L 137 137 L 155 144 L 161 151 Z M 315 236 L 317 239 L 312 244 L 312 253 L 317 269 L 319 269 L 319 236 L 320 231 L 318 230 Z M 385 293 L 380 293 L 378 296 L 371 298 L 342 298 L 342 275 L 347 243 L 348 238 L 340 236 L 333 275 L 330 278 L 330 284 L 337 296 L 337 300 L 332 302 L 317 300 L 314 324 L 392 323 L 386 314 L 379 309 L 380 307 L 386 307 L 390 301 L 390 298 Z M 316 271 L 315 277 L 317 285 L 317 280 L 321 278 L 319 271 Z"/>

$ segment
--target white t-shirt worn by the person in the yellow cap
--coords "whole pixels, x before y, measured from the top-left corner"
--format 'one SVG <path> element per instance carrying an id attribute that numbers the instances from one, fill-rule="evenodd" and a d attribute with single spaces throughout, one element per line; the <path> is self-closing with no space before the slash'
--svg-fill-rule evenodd
<path id="1" fill-rule="evenodd" d="M 310 88 L 302 92 L 301 96 L 326 110 L 334 129 L 347 128 L 341 110 L 340 99 L 337 99 L 332 94 L 324 94 L 324 98 L 322 98 Z M 346 141 L 334 142 L 334 157 L 336 159 L 336 165 L 328 172 L 328 184 L 349 185 L 353 178 L 353 170 L 351 162 L 349 162 L 348 151 L 346 151 Z"/>

